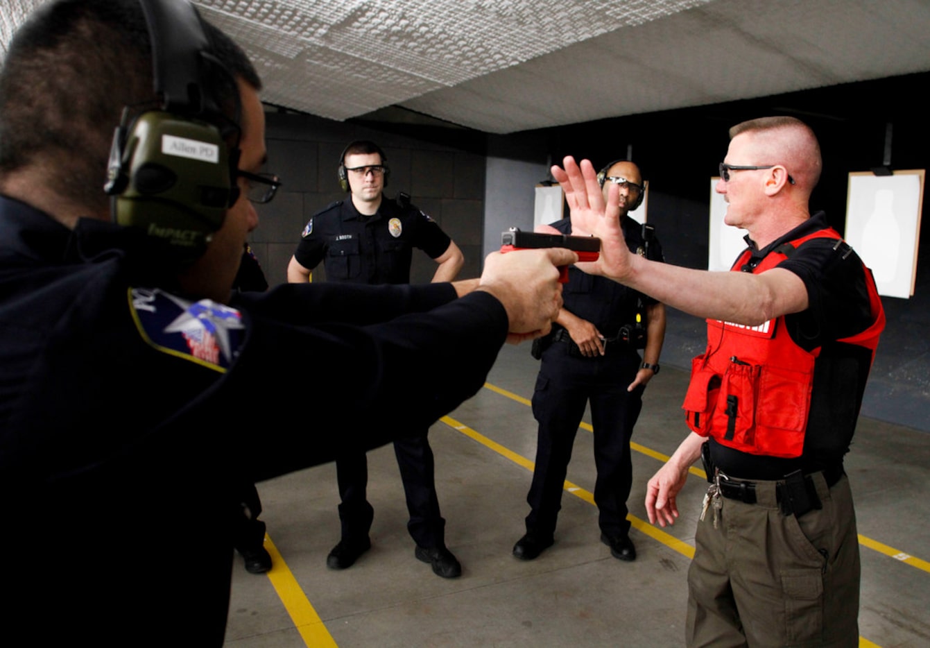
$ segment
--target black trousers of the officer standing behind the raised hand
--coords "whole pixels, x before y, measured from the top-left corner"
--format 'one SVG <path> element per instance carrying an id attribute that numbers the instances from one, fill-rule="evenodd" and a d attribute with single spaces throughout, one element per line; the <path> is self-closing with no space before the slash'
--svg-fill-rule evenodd
<path id="1" fill-rule="evenodd" d="M 607 535 L 624 535 L 630 531 L 626 519 L 632 485 L 630 439 L 643 407 L 644 390 L 638 386 L 628 392 L 627 387 L 641 360 L 629 347 L 608 348 L 609 355 L 600 358 L 571 356 L 569 347 L 557 342 L 546 349 L 533 393 L 539 429 L 536 468 L 526 496 L 531 509 L 526 532 L 547 538 L 555 531 L 575 435 L 585 405 L 591 401 L 599 524 Z"/>

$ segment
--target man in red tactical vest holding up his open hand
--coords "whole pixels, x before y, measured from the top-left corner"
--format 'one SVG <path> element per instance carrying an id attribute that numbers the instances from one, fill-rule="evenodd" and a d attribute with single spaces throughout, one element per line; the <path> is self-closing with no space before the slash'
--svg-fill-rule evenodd
<path id="1" fill-rule="evenodd" d="M 822 162 L 793 117 L 730 129 L 716 191 L 749 247 L 732 272 L 652 263 L 615 243 L 590 163 L 565 158 L 572 226 L 602 238 L 579 264 L 708 319 L 684 410 L 692 433 L 649 480 L 662 526 L 702 457 L 711 482 L 688 573 L 689 646 L 858 644 L 859 555 L 843 457 L 856 427 L 882 303 L 871 273 L 808 201 Z"/>

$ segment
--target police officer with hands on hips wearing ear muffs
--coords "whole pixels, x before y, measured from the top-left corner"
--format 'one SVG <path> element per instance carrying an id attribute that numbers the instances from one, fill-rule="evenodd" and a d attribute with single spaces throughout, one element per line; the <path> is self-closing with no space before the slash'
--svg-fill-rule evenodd
<path id="1" fill-rule="evenodd" d="M 382 194 L 391 170 L 376 143 L 350 143 L 339 158 L 338 170 L 342 189 L 351 199 L 313 215 L 287 266 L 289 281 L 306 282 L 322 261 L 328 281 L 409 283 L 414 248 L 438 263 L 433 282 L 449 281 L 458 274 L 463 262 L 461 250 L 439 225 L 410 205 L 409 196 L 400 194 L 394 201 Z M 445 547 L 445 520 L 439 512 L 432 450 L 426 435 L 395 441 L 394 452 L 410 512 L 407 528 L 417 543 L 416 557 L 431 563 L 435 574 L 445 578 L 460 575 L 461 565 Z M 346 569 L 371 547 L 368 531 L 374 509 L 365 498 L 365 453 L 344 455 L 336 466 L 342 536 L 326 557 L 326 565 Z"/>

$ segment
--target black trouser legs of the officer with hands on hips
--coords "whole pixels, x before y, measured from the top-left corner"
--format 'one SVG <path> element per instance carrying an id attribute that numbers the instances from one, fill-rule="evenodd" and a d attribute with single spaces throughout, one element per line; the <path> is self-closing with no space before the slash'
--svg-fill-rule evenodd
<path id="1" fill-rule="evenodd" d="M 420 437 L 394 441 L 394 455 L 404 482 L 410 521 L 407 531 L 420 547 L 445 547 L 445 520 L 439 512 L 436 497 L 434 462 L 430 442 Z M 359 542 L 367 537 L 375 509 L 368 504 L 365 487 L 368 483 L 368 461 L 365 453 L 344 455 L 336 460 L 339 482 L 339 521 L 342 539 Z"/>

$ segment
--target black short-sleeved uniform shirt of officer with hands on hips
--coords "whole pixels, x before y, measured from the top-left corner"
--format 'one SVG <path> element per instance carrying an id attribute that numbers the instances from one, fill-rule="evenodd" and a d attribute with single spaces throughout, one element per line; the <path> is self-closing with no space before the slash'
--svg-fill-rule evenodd
<path id="1" fill-rule="evenodd" d="M 326 265 L 326 280 L 342 283 L 410 282 L 412 251 L 442 256 L 452 239 L 425 213 L 381 196 L 378 213 L 360 214 L 352 200 L 341 200 L 313 214 L 294 258 L 313 269 Z"/>

